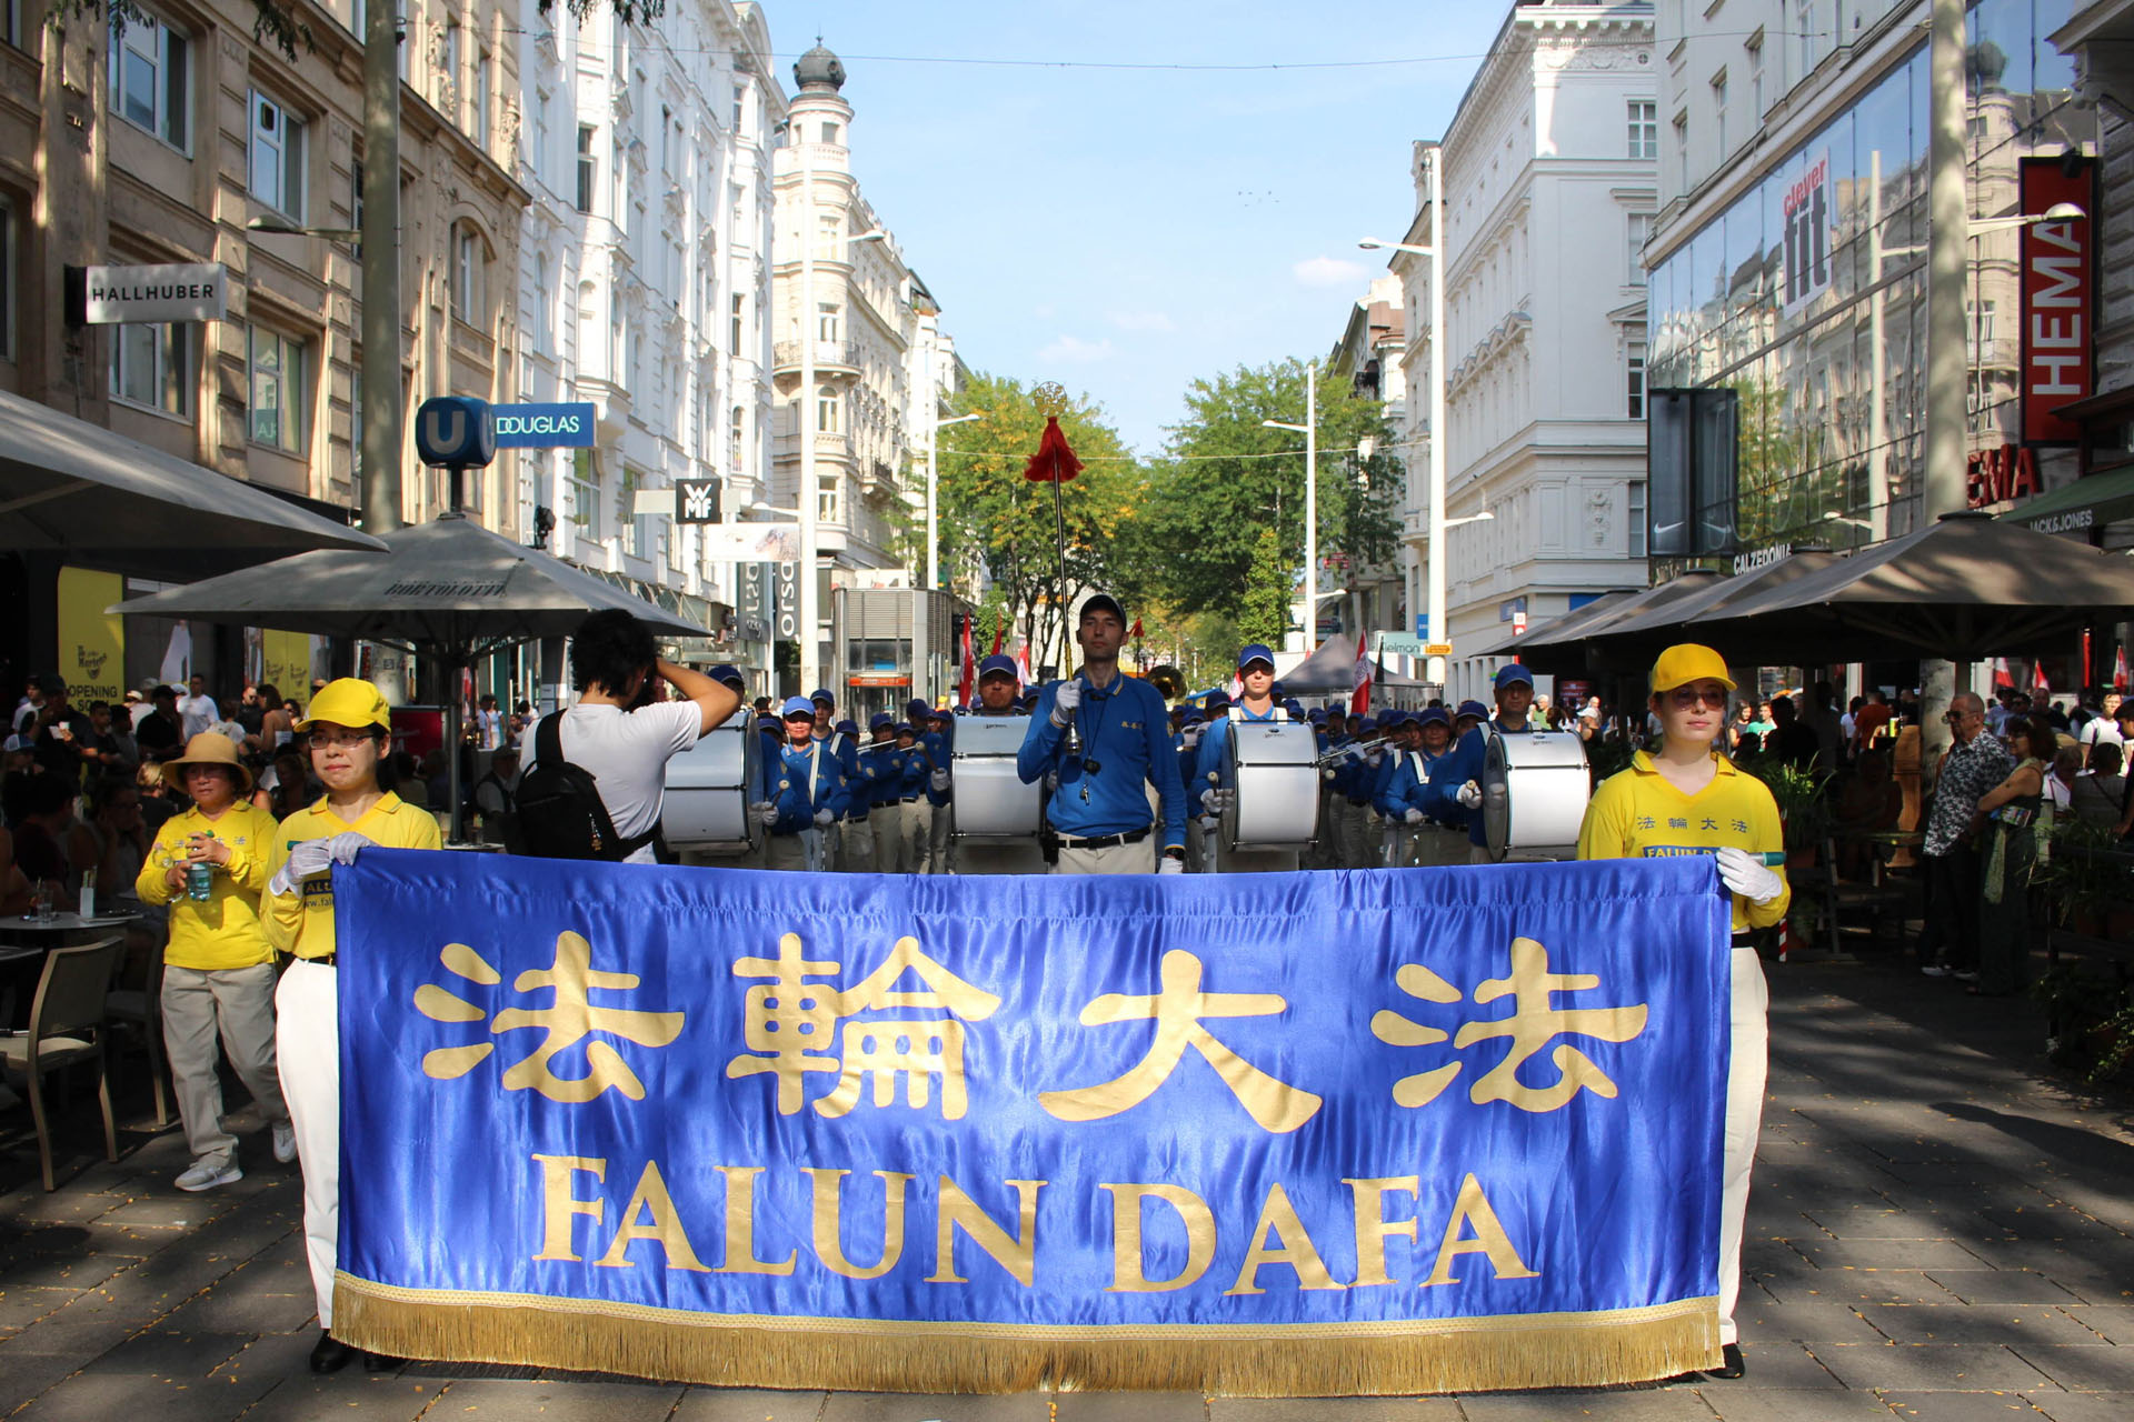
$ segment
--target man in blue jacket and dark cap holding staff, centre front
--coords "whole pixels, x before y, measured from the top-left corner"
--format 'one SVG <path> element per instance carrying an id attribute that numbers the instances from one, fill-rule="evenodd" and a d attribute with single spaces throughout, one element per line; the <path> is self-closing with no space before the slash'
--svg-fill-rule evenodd
<path id="1" fill-rule="evenodd" d="M 1163 695 L 1120 676 L 1127 612 L 1110 593 L 1082 603 L 1082 672 L 1037 697 L 1016 755 L 1024 785 L 1056 776 L 1046 823 L 1058 836 L 1054 874 L 1184 874 L 1187 793 L 1178 782 Z M 1148 791 L 1161 806 L 1150 825 Z"/>

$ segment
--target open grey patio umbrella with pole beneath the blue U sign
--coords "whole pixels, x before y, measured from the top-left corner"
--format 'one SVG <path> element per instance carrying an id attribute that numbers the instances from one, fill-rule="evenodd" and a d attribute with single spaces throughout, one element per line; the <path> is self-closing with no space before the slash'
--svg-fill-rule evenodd
<path id="1" fill-rule="evenodd" d="M 384 546 L 386 552 L 303 552 L 134 597 L 111 612 L 363 637 L 437 657 L 452 669 L 521 642 L 568 635 L 602 608 L 621 608 L 662 635 L 706 631 L 463 514 L 386 533 Z M 457 689 L 446 706 L 446 774 L 452 838 L 459 838 Z"/>

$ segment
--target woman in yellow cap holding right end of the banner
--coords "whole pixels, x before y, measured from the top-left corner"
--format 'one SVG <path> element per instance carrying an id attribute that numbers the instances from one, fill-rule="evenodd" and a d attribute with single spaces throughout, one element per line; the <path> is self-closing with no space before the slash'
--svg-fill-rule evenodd
<path id="1" fill-rule="evenodd" d="M 1733 898 L 1733 1051 L 1726 1070 L 1726 1151 L 1720 1170 L 1720 1347 L 1711 1377 L 1741 1377 L 1741 1230 L 1748 1177 L 1763 1126 L 1769 1070 L 1769 989 L 1752 934 L 1786 919 L 1784 827 L 1763 780 L 1741 772 L 1716 746 L 1733 693 L 1726 659 L 1709 646 L 1682 644 L 1652 665 L 1652 714 L 1660 744 L 1639 750 L 1628 770 L 1600 782 L 1579 827 L 1579 859 L 1714 855 Z"/>

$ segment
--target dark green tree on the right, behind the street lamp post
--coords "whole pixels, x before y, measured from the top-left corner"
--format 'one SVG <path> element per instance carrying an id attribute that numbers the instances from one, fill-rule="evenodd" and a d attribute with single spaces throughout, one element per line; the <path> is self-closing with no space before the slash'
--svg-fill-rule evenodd
<path id="1" fill-rule="evenodd" d="M 1187 390 L 1187 418 L 1172 426 L 1150 469 L 1142 542 L 1150 593 L 1172 605 L 1244 620 L 1261 533 L 1274 563 L 1304 561 L 1304 437 L 1265 420 L 1304 422 L 1304 362 L 1238 367 Z M 1370 458 L 1359 446 L 1372 441 Z M 1319 554 L 1351 567 L 1391 556 L 1402 465 L 1379 401 L 1336 384 L 1319 388 Z M 1291 593 L 1295 576 L 1291 576 Z"/>

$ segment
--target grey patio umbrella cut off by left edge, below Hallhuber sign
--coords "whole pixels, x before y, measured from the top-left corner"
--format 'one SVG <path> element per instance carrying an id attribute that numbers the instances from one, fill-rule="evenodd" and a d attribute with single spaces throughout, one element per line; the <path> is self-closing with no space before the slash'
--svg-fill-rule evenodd
<path id="1" fill-rule="evenodd" d="M 0 548 L 177 580 L 369 533 L 0 390 Z"/>

